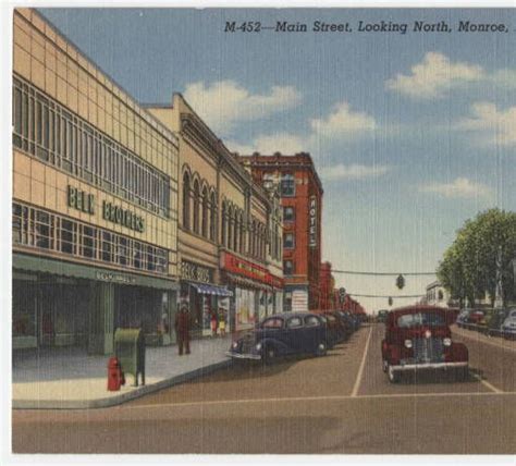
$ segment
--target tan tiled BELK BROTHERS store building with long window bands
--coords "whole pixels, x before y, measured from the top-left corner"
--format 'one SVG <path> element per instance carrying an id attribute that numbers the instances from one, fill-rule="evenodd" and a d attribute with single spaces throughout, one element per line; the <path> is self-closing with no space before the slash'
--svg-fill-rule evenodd
<path id="1" fill-rule="evenodd" d="M 170 342 L 177 138 L 37 12 L 13 26 L 13 347 Z"/>

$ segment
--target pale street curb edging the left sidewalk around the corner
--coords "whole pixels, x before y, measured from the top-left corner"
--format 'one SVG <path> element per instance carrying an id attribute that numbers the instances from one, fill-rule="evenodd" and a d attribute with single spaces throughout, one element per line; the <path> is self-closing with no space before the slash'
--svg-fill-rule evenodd
<path id="1" fill-rule="evenodd" d="M 110 406 L 116 406 L 122 403 L 126 403 L 131 400 L 139 398 L 140 396 L 149 393 L 157 392 L 159 390 L 173 387 L 180 383 L 187 382 L 193 379 L 197 379 L 208 373 L 214 372 L 220 369 L 224 369 L 231 366 L 232 360 L 222 360 L 214 363 L 209 366 L 201 367 L 199 369 L 192 370 L 189 372 L 181 373 L 180 376 L 171 377 L 170 379 L 160 380 L 159 382 L 138 387 L 127 393 L 120 394 L 118 396 L 111 396 L 109 398 L 97 398 L 97 400 L 13 400 L 13 409 L 96 409 L 105 408 Z"/>

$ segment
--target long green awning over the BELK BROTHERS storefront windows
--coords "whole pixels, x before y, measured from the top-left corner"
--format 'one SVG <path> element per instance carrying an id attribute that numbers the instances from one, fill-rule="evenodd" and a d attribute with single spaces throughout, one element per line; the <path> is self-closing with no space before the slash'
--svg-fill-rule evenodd
<path id="1" fill-rule="evenodd" d="M 112 282 L 123 285 L 148 286 L 160 290 L 180 289 L 179 282 L 173 280 L 120 272 L 118 270 L 84 266 L 82 263 L 66 262 L 20 253 L 13 253 L 13 271 L 14 270 L 52 273 L 61 277 L 74 277 L 77 279 Z"/>

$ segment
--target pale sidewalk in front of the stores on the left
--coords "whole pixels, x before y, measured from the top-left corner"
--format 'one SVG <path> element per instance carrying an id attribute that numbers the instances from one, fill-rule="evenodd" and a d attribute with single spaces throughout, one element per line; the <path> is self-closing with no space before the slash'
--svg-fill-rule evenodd
<path id="1" fill-rule="evenodd" d="M 193 340 L 192 354 L 177 346 L 147 347 L 144 387 L 127 376 L 119 392 L 108 392 L 109 356 L 89 356 L 81 348 L 49 348 L 14 354 L 12 407 L 17 409 L 81 409 L 113 406 L 165 387 L 228 367 L 224 355 L 231 336 Z"/>

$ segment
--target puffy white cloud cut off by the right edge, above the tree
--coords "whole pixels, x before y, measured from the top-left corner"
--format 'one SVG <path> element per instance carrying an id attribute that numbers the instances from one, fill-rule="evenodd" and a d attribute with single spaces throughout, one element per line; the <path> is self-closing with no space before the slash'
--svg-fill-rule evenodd
<path id="1" fill-rule="evenodd" d="M 516 107 L 499 110 L 494 103 L 477 102 L 471 106 L 471 118 L 455 124 L 459 131 L 472 132 L 482 145 L 516 146 Z"/>

